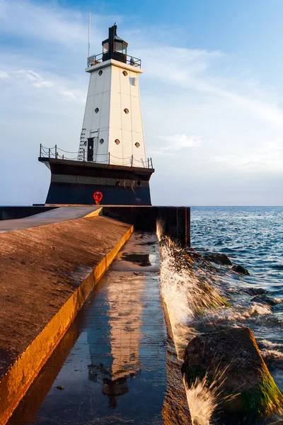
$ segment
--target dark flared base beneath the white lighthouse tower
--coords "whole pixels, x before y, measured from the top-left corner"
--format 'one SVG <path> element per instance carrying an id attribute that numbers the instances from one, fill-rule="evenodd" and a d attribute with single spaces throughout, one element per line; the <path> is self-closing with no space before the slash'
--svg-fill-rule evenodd
<path id="1" fill-rule="evenodd" d="M 47 204 L 151 205 L 149 179 L 154 169 L 40 157 L 51 171 Z"/>

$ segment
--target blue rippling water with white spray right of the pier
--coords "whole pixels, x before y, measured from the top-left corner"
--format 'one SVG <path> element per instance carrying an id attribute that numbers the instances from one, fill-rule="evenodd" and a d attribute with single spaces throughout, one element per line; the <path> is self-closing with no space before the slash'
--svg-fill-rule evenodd
<path id="1" fill-rule="evenodd" d="M 190 271 L 176 263 L 170 246 L 163 246 L 161 289 L 178 357 L 183 358 L 187 342 L 198 333 L 247 326 L 253 330 L 270 373 L 282 391 L 283 208 L 195 207 L 191 213 L 192 247 L 202 254 L 224 253 L 232 263 L 248 268 L 250 276 L 234 273 L 230 266 L 215 265 L 216 271 L 195 266 Z M 203 281 L 223 295 L 231 307 L 209 308 Z M 195 423 L 211 423 L 219 402 L 214 390 L 215 383 L 207 389 L 205 382 L 187 388 Z"/>

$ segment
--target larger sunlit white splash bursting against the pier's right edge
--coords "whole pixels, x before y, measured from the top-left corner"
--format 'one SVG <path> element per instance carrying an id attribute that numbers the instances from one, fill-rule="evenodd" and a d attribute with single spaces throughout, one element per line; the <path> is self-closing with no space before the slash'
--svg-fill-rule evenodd
<path id="1" fill-rule="evenodd" d="M 161 238 L 161 257 L 161 295 L 168 308 L 178 358 L 183 358 L 187 342 L 197 334 L 195 319 L 227 304 L 190 268 L 185 251 L 168 238 Z"/>

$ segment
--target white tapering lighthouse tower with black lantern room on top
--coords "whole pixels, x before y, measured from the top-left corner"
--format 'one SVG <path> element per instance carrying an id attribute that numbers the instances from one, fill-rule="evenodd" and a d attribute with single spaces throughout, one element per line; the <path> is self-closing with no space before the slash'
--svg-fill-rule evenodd
<path id="1" fill-rule="evenodd" d="M 103 53 L 88 58 L 90 74 L 79 160 L 148 167 L 139 96 L 141 61 L 127 56 L 127 42 L 109 28 Z"/>

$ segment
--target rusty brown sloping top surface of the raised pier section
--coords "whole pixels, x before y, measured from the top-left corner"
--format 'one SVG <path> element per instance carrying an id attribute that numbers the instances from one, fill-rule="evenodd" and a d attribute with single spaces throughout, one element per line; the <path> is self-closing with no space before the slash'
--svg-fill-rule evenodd
<path id="1" fill-rule="evenodd" d="M 0 399 L 8 369 L 130 228 L 90 217 L 0 234 Z"/>

